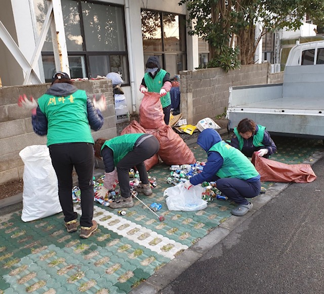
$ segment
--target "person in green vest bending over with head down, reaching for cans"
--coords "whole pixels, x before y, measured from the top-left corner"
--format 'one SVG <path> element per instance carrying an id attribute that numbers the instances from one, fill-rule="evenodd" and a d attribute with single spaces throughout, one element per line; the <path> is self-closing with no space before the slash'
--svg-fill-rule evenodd
<path id="1" fill-rule="evenodd" d="M 144 195 L 151 195 L 144 160 L 157 153 L 160 144 L 150 134 L 125 134 L 110 140 L 98 139 L 95 142 L 95 156 L 102 158 L 105 166 L 104 185 L 96 196 L 104 198 L 106 193 L 119 182 L 120 197 L 109 204 L 110 208 L 132 207 L 129 170 L 136 166 L 141 184 L 135 189 Z"/>

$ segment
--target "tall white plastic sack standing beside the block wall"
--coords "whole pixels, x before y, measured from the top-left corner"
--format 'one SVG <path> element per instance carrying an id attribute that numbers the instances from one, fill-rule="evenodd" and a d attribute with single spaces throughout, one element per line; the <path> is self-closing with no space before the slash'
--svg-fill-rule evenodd
<path id="1" fill-rule="evenodd" d="M 30 222 L 60 213 L 57 177 L 49 148 L 46 145 L 27 146 L 19 155 L 25 164 L 22 221 Z"/>

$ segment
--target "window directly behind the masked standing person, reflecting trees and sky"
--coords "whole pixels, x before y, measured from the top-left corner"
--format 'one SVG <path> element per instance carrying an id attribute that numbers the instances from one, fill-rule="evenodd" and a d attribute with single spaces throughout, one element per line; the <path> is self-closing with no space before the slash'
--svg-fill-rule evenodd
<path id="1" fill-rule="evenodd" d="M 150 56 L 157 56 L 160 65 L 173 78 L 187 69 L 186 26 L 182 15 L 142 10 L 144 66 Z"/>

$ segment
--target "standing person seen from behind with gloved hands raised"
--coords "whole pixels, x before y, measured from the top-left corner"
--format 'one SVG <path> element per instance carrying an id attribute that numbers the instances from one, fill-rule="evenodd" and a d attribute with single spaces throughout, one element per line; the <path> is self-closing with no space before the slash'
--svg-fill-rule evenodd
<path id="1" fill-rule="evenodd" d="M 89 238 L 97 230 L 93 220 L 94 140 L 91 130 L 98 131 L 104 122 L 101 111 L 106 98 L 91 101 L 65 72 L 57 72 L 47 92 L 38 98 L 20 97 L 18 105 L 32 111 L 34 132 L 47 136 L 52 164 L 58 179 L 59 200 L 68 233 L 77 231 L 77 213 L 72 202 L 72 171 L 75 168 L 81 190 L 80 237 Z M 45 193 L 46 196 L 46 193 Z"/>

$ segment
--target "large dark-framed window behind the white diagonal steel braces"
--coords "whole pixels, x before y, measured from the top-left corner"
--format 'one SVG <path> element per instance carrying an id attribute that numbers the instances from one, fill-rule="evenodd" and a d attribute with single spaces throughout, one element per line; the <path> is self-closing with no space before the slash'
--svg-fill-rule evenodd
<path id="1" fill-rule="evenodd" d="M 33 0 L 40 32 L 46 0 Z M 81 0 L 61 0 L 71 78 L 118 72 L 129 83 L 124 8 Z M 45 80 L 51 81 L 55 62 L 51 32 L 42 51 Z"/>

